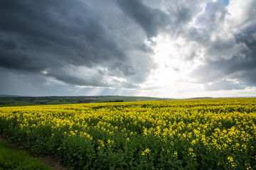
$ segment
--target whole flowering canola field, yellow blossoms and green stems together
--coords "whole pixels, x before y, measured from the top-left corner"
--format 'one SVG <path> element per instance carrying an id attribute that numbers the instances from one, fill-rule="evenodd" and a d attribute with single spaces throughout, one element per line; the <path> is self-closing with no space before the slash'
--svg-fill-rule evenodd
<path id="1" fill-rule="evenodd" d="M 256 169 L 256 98 L 0 108 L 0 133 L 69 169 Z"/>

